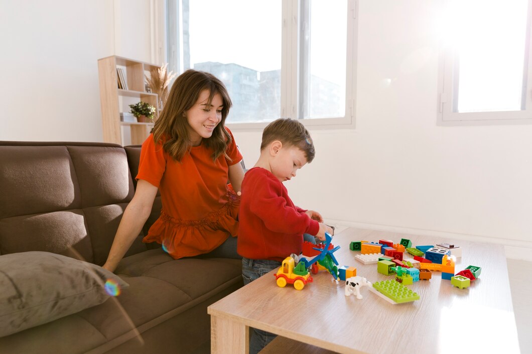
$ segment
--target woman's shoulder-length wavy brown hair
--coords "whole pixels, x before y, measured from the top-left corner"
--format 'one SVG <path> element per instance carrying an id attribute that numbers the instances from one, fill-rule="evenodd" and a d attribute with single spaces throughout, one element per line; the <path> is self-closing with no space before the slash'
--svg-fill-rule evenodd
<path id="1" fill-rule="evenodd" d="M 213 160 L 222 154 L 227 157 L 226 148 L 231 143 L 231 136 L 225 128 L 225 122 L 232 105 L 227 89 L 213 74 L 189 69 L 174 81 L 164 109 L 153 128 L 155 142 L 161 142 L 163 149 L 177 161 L 192 146 L 185 112 L 194 106 L 203 90 L 210 92 L 208 104 L 211 104 L 216 94 L 220 94 L 223 102 L 222 120 L 214 128 L 212 136 L 203 139 L 203 144 L 214 150 Z"/>

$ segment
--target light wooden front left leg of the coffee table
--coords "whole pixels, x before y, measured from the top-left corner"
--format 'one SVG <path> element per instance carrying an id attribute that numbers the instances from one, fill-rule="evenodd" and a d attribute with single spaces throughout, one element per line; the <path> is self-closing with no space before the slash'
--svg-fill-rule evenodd
<path id="1" fill-rule="evenodd" d="M 211 354 L 248 354 L 250 327 L 211 315 Z"/>

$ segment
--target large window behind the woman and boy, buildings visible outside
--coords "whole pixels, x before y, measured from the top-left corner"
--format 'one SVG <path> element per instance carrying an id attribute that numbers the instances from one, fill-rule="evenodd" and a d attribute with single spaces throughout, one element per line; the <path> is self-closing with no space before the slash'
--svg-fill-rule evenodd
<path id="1" fill-rule="evenodd" d="M 231 129 L 278 117 L 353 127 L 355 0 L 168 0 L 170 69 L 226 85 Z M 253 124 L 250 123 L 263 123 Z"/>

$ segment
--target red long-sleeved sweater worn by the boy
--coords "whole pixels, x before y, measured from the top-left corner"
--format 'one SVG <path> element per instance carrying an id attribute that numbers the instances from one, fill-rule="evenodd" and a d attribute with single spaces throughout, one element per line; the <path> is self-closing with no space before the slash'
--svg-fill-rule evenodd
<path id="1" fill-rule="evenodd" d="M 296 207 L 285 186 L 268 170 L 254 167 L 242 181 L 238 213 L 238 254 L 282 261 L 301 254 L 303 234 L 318 234 L 319 223 Z"/>

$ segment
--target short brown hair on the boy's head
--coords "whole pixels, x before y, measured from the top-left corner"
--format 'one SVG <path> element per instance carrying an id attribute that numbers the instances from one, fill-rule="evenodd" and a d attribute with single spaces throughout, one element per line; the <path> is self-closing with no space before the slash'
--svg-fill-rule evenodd
<path id="1" fill-rule="evenodd" d="M 295 119 L 279 118 L 270 124 L 262 132 L 261 150 L 270 142 L 279 140 L 284 146 L 295 146 L 305 153 L 307 163 L 314 159 L 314 143 L 305 126 Z"/>

